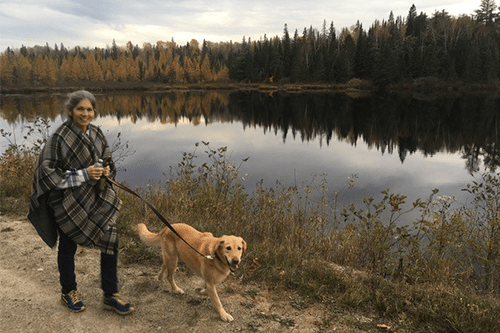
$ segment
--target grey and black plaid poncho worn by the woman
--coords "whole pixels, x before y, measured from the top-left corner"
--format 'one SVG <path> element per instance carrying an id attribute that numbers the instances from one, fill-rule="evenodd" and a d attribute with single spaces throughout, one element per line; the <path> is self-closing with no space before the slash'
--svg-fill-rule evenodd
<path id="1" fill-rule="evenodd" d="M 90 124 L 84 134 L 71 118 L 45 144 L 33 177 L 28 219 L 50 247 L 56 244 L 59 226 L 77 244 L 113 253 L 121 200 L 111 186 L 99 191 L 96 181 L 89 180 L 75 187 L 58 187 L 68 170 L 86 169 L 99 158 L 111 158 L 101 129 Z"/>

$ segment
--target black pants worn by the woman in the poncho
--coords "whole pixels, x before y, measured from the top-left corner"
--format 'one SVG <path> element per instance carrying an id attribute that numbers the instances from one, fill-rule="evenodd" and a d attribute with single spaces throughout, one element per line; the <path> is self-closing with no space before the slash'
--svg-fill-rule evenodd
<path id="1" fill-rule="evenodd" d="M 75 275 L 76 248 L 77 244 L 59 229 L 57 265 L 63 294 L 67 294 L 77 287 Z M 104 291 L 104 296 L 111 296 L 118 292 L 117 263 L 117 247 L 114 249 L 114 254 L 101 252 L 101 288 Z"/>

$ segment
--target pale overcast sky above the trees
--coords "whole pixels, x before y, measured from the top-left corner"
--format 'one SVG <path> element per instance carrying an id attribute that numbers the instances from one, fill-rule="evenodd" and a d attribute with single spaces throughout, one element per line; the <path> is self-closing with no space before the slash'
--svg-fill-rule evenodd
<path id="1" fill-rule="evenodd" d="M 67 48 L 118 46 L 174 39 L 185 44 L 241 42 L 282 36 L 323 21 L 337 30 L 359 20 L 368 29 L 375 20 L 405 17 L 412 4 L 431 16 L 473 14 L 481 0 L 0 0 L 0 52 L 8 46 L 63 43 Z"/>

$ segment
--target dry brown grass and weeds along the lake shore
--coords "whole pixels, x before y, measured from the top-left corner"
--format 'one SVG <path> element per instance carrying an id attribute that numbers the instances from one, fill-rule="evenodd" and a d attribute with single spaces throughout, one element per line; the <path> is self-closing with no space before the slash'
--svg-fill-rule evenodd
<path id="1" fill-rule="evenodd" d="M 0 158 L 2 212 L 26 213 L 38 153 L 36 145 L 27 147 L 12 144 Z M 453 198 L 437 190 L 409 204 L 404 195 L 385 190 L 339 207 L 337 199 L 355 186 L 355 178 L 334 192 L 333 201 L 310 200 L 313 191 L 329 191 L 321 177 L 300 188 L 258 184 L 249 194 L 238 174 L 242 163 L 234 163 L 225 147 L 197 144 L 170 170 L 164 188 L 137 191 L 171 223 L 244 237 L 249 251 L 237 273 L 240 281 L 293 289 L 300 297 L 294 306 L 322 302 L 331 309 L 325 322 L 361 311 L 408 332 L 500 327 L 498 174 L 481 175 L 467 186 L 469 207 L 455 207 Z M 159 265 L 158 251 L 139 241 L 135 226 L 144 222 L 160 230 L 163 224 L 133 196 L 119 195 L 122 259 Z M 401 225 L 409 211 L 419 217 Z M 280 322 L 294 325 L 288 318 Z"/>

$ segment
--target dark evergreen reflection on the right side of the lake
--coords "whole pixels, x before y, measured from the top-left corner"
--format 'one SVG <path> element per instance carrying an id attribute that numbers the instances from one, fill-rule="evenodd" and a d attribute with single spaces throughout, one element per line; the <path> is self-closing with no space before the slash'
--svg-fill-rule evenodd
<path id="1" fill-rule="evenodd" d="M 303 94 L 264 98 L 238 96 L 245 108 L 240 119 L 248 126 L 279 129 L 303 141 L 332 137 L 356 145 L 362 140 L 382 153 L 396 153 L 403 163 L 416 151 L 426 156 L 462 152 L 469 171 L 481 161 L 495 170 L 500 165 L 498 112 L 500 99 L 487 96 L 350 99 L 345 95 Z M 280 101 L 281 99 L 281 101 Z M 233 99 L 231 100 L 233 104 Z"/>

